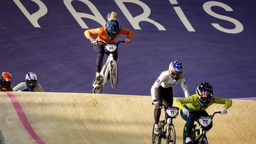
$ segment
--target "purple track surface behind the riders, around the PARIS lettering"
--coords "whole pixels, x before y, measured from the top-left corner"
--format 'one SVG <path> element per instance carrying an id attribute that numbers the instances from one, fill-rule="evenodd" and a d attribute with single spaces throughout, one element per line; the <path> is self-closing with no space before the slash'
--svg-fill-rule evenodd
<path id="1" fill-rule="evenodd" d="M 117 89 L 106 85 L 104 93 L 148 96 L 160 72 L 167 70 L 170 61 L 177 59 L 184 64 L 190 93 L 195 92 L 199 83 L 208 81 L 214 86 L 216 96 L 256 96 L 254 0 L 218 2 L 221 4 L 213 6 L 212 12 L 226 16 L 225 20 L 206 12 L 203 6 L 213 3 L 208 0 L 176 1 L 177 4 L 167 0 L 141 0 L 148 17 L 165 27 L 165 31 L 145 21 L 139 23 L 141 29 L 133 27 L 122 12 L 124 8 L 119 8 L 115 1 L 91 1 L 89 6 L 83 1 L 72 1 L 76 12 L 94 15 L 91 11 L 94 9 L 105 18 L 109 12 L 115 11 L 122 27 L 134 30 L 132 43 L 120 44 L 119 85 Z M 38 74 L 38 81 L 45 91 L 91 92 L 96 53 L 83 35 L 86 29 L 79 25 L 63 2 L 42 1 L 47 13 L 38 19 L 38 28 L 31 24 L 14 1 L 1 0 L 0 71 L 12 73 L 12 86 L 24 81 L 25 74 L 33 71 Z M 139 1 L 133 2 L 124 3 L 129 13 L 133 17 L 143 14 Z M 20 0 L 20 3 L 30 14 L 39 10 L 34 1 Z M 175 8 L 182 10 L 195 31 L 188 31 Z M 229 21 L 232 18 L 242 24 L 241 32 L 225 33 L 212 26 L 218 23 L 225 29 L 236 30 L 238 25 Z M 82 18 L 82 21 L 90 29 L 101 26 L 90 18 Z M 175 88 L 174 93 L 177 97 L 183 96 L 180 87 Z"/>

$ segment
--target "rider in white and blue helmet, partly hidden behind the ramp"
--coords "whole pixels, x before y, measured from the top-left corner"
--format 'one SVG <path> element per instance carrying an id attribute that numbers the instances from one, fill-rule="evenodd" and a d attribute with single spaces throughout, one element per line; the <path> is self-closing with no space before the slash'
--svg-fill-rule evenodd
<path id="1" fill-rule="evenodd" d="M 25 76 L 25 81 L 14 87 L 14 91 L 44 91 L 38 83 L 38 76 L 35 73 L 29 72 Z"/>

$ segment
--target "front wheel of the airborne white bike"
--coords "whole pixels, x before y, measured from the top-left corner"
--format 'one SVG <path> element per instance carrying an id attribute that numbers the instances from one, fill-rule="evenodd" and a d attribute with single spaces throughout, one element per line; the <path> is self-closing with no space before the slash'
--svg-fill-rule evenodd
<path id="1" fill-rule="evenodd" d="M 111 87 L 115 88 L 117 87 L 117 81 L 118 81 L 118 69 L 117 69 L 117 62 L 111 61 L 111 69 L 109 71 L 109 81 L 111 83 Z"/>

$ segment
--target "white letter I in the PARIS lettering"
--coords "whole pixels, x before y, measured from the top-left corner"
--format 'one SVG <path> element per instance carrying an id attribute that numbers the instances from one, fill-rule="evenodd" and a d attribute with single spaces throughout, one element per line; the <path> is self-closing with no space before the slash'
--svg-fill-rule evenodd
<path id="1" fill-rule="evenodd" d="M 171 5 L 177 5 L 177 1 L 176 0 L 169 0 Z M 180 7 L 173 7 L 177 16 L 179 16 L 180 20 L 182 21 L 183 25 L 186 27 L 186 29 L 188 29 L 188 31 L 195 31 L 195 29 L 192 27 L 192 25 L 189 23 L 188 18 L 186 18 L 184 12 L 182 11 L 182 9 Z"/>

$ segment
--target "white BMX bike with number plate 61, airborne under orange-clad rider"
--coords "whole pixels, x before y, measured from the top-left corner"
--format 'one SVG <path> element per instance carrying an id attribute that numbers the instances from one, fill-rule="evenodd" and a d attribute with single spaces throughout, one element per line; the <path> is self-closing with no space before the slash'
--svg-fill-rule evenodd
<path id="1" fill-rule="evenodd" d="M 118 45 L 121 42 L 124 43 L 124 41 L 119 41 L 115 44 L 106 44 L 106 42 L 98 41 L 99 44 L 104 45 L 104 53 L 108 54 L 109 57 L 106 59 L 104 66 L 100 70 L 101 83 L 98 83 L 94 77 L 94 81 L 92 83 L 92 93 L 102 93 L 103 86 L 108 79 L 111 83 L 111 87 L 117 87 L 118 70 L 117 62 L 114 59 L 113 53 L 117 53 Z"/>

